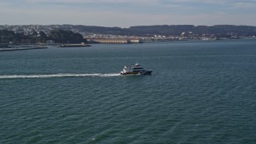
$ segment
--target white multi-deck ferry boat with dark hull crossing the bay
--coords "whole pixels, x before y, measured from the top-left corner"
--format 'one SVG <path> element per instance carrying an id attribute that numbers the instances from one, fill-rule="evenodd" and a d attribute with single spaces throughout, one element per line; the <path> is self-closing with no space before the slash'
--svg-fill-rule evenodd
<path id="1" fill-rule="evenodd" d="M 145 70 L 140 64 L 130 64 L 129 66 L 124 66 L 120 74 L 151 74 L 152 70 Z"/>

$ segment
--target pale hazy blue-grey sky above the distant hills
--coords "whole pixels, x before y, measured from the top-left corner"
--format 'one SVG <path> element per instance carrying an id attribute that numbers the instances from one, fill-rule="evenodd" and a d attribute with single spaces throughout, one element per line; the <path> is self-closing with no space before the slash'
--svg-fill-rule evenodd
<path id="1" fill-rule="evenodd" d="M 256 26 L 256 0 L 0 0 L 0 25 Z"/>

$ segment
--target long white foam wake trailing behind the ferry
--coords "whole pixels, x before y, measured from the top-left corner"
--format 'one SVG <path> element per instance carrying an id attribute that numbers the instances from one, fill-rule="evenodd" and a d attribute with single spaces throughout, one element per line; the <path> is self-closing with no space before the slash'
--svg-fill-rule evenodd
<path id="1" fill-rule="evenodd" d="M 120 74 L 28 74 L 0 75 L 0 79 L 11 78 L 61 78 L 61 77 L 116 77 Z"/>

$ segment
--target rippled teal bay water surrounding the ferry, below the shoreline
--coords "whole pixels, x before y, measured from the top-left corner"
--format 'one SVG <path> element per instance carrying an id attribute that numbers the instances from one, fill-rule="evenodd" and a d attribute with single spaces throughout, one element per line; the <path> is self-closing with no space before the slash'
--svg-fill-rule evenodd
<path id="1" fill-rule="evenodd" d="M 0 143 L 255 143 L 256 39 L 0 52 L 0 98 Z"/>

